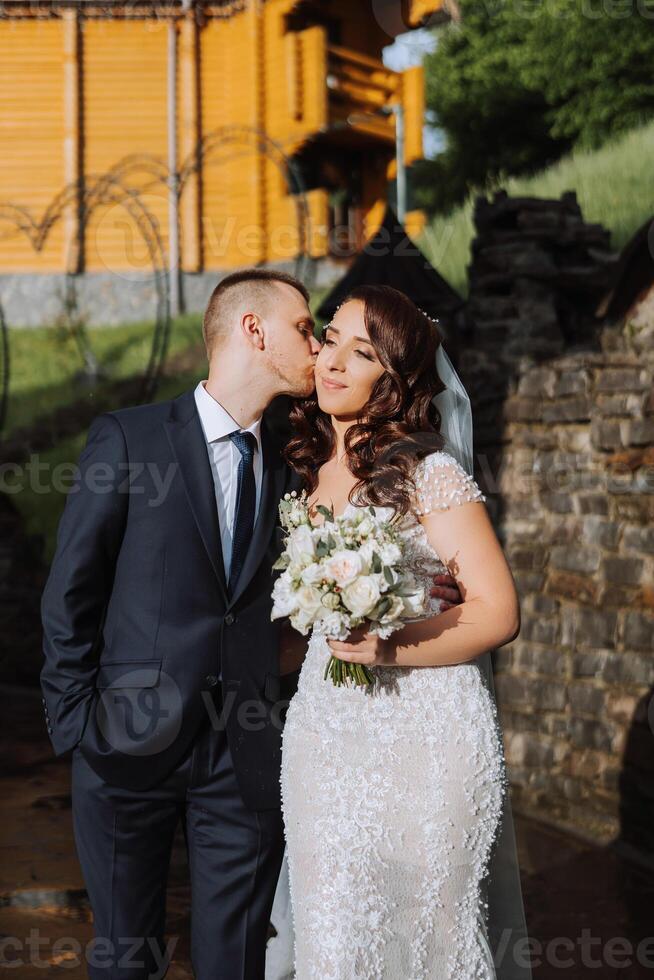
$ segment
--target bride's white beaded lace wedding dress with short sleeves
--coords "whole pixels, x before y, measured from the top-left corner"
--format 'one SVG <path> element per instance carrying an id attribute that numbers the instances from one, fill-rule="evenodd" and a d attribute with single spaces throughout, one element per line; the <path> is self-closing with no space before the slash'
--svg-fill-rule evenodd
<path id="1" fill-rule="evenodd" d="M 443 451 L 416 485 L 401 533 L 429 595 L 446 569 L 418 515 L 486 498 Z M 283 735 L 295 976 L 491 980 L 480 881 L 508 781 L 480 670 L 376 667 L 364 690 L 323 680 L 329 655 L 312 636 Z"/>

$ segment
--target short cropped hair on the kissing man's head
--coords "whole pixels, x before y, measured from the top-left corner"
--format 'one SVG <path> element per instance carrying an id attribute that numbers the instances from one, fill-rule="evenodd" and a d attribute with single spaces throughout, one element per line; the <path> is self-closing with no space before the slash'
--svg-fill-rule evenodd
<path id="1" fill-rule="evenodd" d="M 259 308 L 258 312 L 265 316 L 269 305 L 277 298 L 274 288 L 276 282 L 293 286 L 309 302 L 309 291 L 304 283 L 288 272 L 275 269 L 241 269 L 220 280 L 209 298 L 202 320 L 202 336 L 208 355 L 216 343 L 228 335 L 235 310 L 246 296 Z"/>

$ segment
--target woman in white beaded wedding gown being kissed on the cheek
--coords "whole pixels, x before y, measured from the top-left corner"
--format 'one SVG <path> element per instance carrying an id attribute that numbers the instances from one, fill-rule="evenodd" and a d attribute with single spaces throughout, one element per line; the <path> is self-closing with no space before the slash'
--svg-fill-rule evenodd
<path id="1" fill-rule="evenodd" d="M 358 287 L 325 328 L 316 394 L 291 415 L 285 455 L 314 523 L 321 504 L 395 514 L 427 594 L 449 571 L 463 596 L 443 612 L 431 598 L 387 640 L 312 635 L 307 647 L 293 634 L 302 669 L 281 789 L 297 980 L 498 976 L 485 879 L 498 838 L 513 859 L 515 843 L 488 651 L 515 638 L 520 610 L 486 498 L 452 455 L 465 439 L 443 435 L 456 427 L 434 398 L 449 364 L 439 345 L 405 294 Z M 367 665 L 373 686 L 325 681 L 330 654 Z M 524 920 L 510 870 L 501 914 L 515 938 Z M 499 975 L 530 972 L 513 960 Z"/>

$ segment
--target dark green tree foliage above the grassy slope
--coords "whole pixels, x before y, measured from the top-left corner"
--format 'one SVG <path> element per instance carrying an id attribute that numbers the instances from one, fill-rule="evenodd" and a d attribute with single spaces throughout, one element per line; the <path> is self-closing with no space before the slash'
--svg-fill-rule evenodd
<path id="1" fill-rule="evenodd" d="M 415 198 L 447 210 L 472 188 L 533 173 L 654 116 L 654 0 L 459 0 L 425 60 L 445 134 Z"/>

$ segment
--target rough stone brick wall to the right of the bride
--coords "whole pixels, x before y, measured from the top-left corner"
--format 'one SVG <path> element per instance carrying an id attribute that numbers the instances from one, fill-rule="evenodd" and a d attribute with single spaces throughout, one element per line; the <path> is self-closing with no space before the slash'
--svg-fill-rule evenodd
<path id="1" fill-rule="evenodd" d="M 495 653 L 514 805 L 651 854 L 654 290 L 638 315 L 598 323 L 615 259 L 601 230 L 573 196 L 529 203 L 478 202 L 459 354 L 477 476 L 521 598 L 520 634 Z M 564 241 L 549 233 L 562 212 Z"/>

